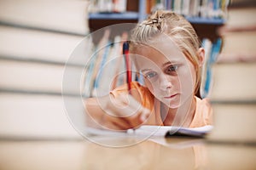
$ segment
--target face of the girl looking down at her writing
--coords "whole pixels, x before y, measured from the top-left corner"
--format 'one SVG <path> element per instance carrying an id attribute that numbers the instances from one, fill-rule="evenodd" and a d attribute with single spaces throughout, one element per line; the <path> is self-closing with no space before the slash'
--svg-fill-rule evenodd
<path id="1" fill-rule="evenodd" d="M 145 85 L 156 99 L 177 108 L 193 99 L 195 67 L 171 40 L 143 46 L 135 58 L 137 68 L 143 74 Z M 191 101 L 191 100 L 189 100 Z"/>

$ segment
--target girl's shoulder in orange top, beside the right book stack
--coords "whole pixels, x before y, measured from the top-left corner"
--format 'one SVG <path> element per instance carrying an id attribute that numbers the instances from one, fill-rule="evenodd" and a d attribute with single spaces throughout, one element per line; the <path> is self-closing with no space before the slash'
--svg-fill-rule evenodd
<path id="1" fill-rule="evenodd" d="M 190 127 L 212 125 L 212 106 L 210 105 L 209 99 L 199 99 L 195 97 L 195 100 L 195 116 Z"/>

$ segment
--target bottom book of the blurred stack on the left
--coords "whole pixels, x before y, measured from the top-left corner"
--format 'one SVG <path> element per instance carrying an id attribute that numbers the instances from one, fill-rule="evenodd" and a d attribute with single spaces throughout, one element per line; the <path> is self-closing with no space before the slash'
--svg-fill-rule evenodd
<path id="1" fill-rule="evenodd" d="M 70 102 L 79 103 L 76 97 Z M 62 96 L 0 94 L 0 137 L 7 139 L 81 139 L 72 127 Z M 80 115 L 83 107 L 73 107 Z"/>

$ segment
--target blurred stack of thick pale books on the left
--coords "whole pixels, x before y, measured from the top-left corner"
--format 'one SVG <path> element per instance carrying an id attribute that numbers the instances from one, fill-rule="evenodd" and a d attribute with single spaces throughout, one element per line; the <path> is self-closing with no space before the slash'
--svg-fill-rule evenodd
<path id="1" fill-rule="evenodd" d="M 89 3 L 0 0 L 0 138 L 79 138 L 61 86 L 67 59 L 89 33 Z"/>

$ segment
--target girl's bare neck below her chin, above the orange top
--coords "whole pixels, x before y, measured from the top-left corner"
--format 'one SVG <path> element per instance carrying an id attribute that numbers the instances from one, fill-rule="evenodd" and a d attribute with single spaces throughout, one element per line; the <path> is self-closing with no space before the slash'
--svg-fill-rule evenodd
<path id="1" fill-rule="evenodd" d="M 192 96 L 178 108 L 169 108 L 162 104 L 161 115 L 164 125 L 189 127 L 194 116 L 196 108 L 195 97 Z"/>

